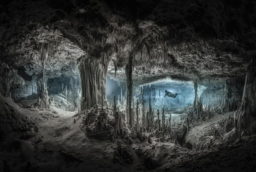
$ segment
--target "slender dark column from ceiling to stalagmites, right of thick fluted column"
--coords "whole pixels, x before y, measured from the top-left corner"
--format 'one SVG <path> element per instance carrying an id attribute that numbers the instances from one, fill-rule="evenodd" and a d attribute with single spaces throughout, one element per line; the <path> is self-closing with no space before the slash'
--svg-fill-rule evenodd
<path id="1" fill-rule="evenodd" d="M 131 110 L 131 99 L 132 99 L 132 54 L 129 55 L 128 64 L 125 66 L 126 75 L 126 114 L 128 114 L 128 124 L 132 126 L 132 110 Z"/>

